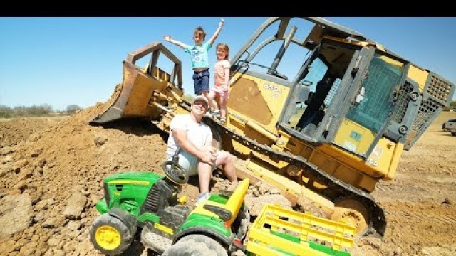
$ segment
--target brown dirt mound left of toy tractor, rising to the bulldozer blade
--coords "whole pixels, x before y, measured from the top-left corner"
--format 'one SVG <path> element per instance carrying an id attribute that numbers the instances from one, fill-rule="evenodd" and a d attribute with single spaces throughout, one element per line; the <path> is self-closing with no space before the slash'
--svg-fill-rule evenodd
<path id="1" fill-rule="evenodd" d="M 110 102 L 66 119 L 1 123 L 0 201 L 26 195 L 32 210 L 26 228 L 14 234 L 2 226 L 11 223 L 0 219 L 0 255 L 95 255 L 88 228 L 98 216 L 93 206 L 103 197 L 103 178 L 118 171 L 161 171 L 165 135 L 150 122 L 88 124 Z M 75 195 L 86 200 L 75 206 Z M 68 208 L 81 210 L 69 214 Z M 0 218 L 22 209 L 4 209 Z"/>

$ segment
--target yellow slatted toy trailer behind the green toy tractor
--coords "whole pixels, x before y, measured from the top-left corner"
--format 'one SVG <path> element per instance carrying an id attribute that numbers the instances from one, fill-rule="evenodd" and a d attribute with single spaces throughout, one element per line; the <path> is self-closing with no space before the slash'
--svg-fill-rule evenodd
<path id="1" fill-rule="evenodd" d="M 356 228 L 278 205 L 266 205 L 248 233 L 250 255 L 350 255 Z M 322 245 L 331 243 L 332 247 Z"/>

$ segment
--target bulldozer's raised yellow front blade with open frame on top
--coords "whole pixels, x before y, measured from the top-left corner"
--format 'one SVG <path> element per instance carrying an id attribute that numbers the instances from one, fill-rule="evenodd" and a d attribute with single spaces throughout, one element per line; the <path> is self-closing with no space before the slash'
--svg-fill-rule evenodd
<path id="1" fill-rule="evenodd" d="M 140 68 L 135 65 L 136 60 L 149 53 L 152 55 L 147 67 Z M 157 67 L 160 54 L 164 54 L 175 63 L 171 74 Z M 175 82 L 175 78 L 177 78 L 177 82 Z M 90 123 L 103 124 L 116 119 L 133 117 L 153 119 L 157 115 L 156 102 L 167 101 L 162 94 L 165 90 L 172 90 L 174 94 L 182 96 L 181 62 L 162 43 L 155 42 L 128 54 L 127 59 L 123 61 L 122 85 L 113 96 L 115 100 Z M 157 97 L 157 95 L 161 97 Z"/>

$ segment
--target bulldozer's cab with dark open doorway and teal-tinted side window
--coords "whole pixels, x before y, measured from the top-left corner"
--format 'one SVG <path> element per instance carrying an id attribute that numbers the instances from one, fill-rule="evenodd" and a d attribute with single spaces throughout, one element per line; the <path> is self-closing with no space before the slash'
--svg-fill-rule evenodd
<path id="1" fill-rule="evenodd" d="M 391 95 L 404 66 L 373 46 L 323 40 L 297 75 L 297 81 L 318 80 L 311 97 L 302 110 L 289 97 L 279 126 L 308 142 L 329 142 L 368 159 L 390 123 Z"/>

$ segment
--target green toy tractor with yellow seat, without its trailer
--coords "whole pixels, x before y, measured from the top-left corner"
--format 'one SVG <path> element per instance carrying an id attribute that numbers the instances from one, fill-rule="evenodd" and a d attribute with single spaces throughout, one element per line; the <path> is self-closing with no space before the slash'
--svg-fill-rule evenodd
<path id="1" fill-rule="evenodd" d="M 96 204 L 98 217 L 90 229 L 95 249 L 106 255 L 119 255 L 133 242 L 137 227 L 142 228 L 142 244 L 155 252 L 184 253 L 180 244 L 189 240 L 205 246 L 194 252 L 227 255 L 247 233 L 250 216 L 244 206 L 249 180 L 236 191 L 213 194 L 195 209 L 186 206 L 185 197 L 177 198 L 188 176 L 182 167 L 167 161 L 166 176 L 146 171 L 113 174 L 104 180 L 105 198 Z M 177 247 L 177 249 L 174 249 Z M 190 250 L 189 249 L 189 250 Z M 188 255 L 183 254 L 183 255 Z"/>

